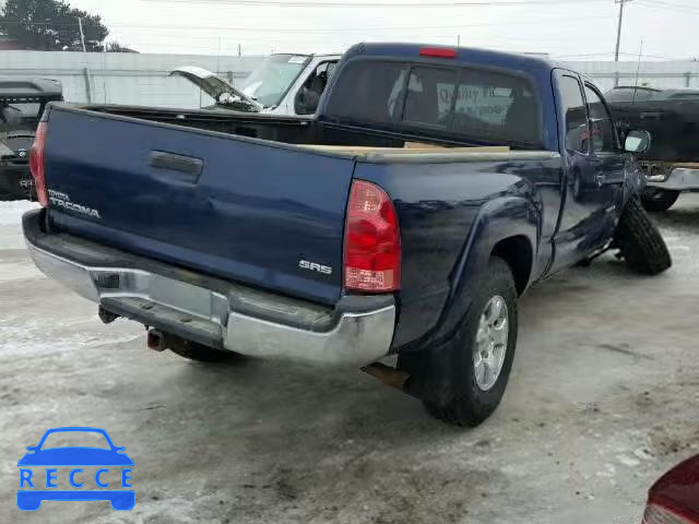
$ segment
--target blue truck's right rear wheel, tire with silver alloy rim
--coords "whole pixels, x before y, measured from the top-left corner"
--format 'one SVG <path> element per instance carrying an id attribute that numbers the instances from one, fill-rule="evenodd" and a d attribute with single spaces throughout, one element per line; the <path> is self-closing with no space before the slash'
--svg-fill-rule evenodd
<path id="1" fill-rule="evenodd" d="M 517 345 L 517 290 L 510 266 L 493 258 L 455 335 L 429 352 L 418 373 L 420 394 L 435 417 L 477 426 L 497 408 Z M 420 376 L 422 374 L 422 376 Z"/>

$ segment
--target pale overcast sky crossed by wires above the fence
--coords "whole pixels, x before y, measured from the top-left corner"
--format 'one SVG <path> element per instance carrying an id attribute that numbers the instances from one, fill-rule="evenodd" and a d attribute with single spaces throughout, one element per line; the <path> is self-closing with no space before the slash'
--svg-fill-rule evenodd
<path id="1" fill-rule="evenodd" d="M 285 1 L 296 5 L 283 5 Z M 69 2 L 100 14 L 109 27 L 109 40 L 141 52 L 205 55 L 235 55 L 238 44 L 244 55 L 253 55 L 342 51 L 354 43 L 372 40 L 455 45 L 460 38 L 462 46 L 609 60 L 618 15 L 614 0 L 424 0 L 419 7 L 410 7 L 419 0 Z M 384 7 L 391 3 L 401 5 Z M 637 59 L 641 40 L 645 60 L 699 56 L 698 26 L 697 0 L 629 1 L 621 58 Z"/>

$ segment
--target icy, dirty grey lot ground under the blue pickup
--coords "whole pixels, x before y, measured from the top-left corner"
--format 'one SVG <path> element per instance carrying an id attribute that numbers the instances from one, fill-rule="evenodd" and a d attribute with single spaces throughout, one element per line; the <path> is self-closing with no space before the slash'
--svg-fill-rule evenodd
<path id="1" fill-rule="evenodd" d="M 359 371 L 146 350 L 34 269 L 28 206 L 0 203 L 0 522 L 637 524 L 652 481 L 699 453 L 699 195 L 655 217 L 666 274 L 605 255 L 530 291 L 503 403 L 472 430 Z M 127 448 L 132 512 L 17 511 L 16 461 L 70 425 Z"/>

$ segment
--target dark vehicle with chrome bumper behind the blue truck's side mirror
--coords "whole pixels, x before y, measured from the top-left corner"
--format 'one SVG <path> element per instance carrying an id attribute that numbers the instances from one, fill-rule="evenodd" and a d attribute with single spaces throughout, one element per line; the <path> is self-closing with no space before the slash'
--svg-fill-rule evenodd
<path id="1" fill-rule="evenodd" d="M 617 87 L 605 96 L 617 120 L 653 134 L 640 158 L 643 207 L 667 211 L 682 192 L 699 191 L 699 90 Z"/>

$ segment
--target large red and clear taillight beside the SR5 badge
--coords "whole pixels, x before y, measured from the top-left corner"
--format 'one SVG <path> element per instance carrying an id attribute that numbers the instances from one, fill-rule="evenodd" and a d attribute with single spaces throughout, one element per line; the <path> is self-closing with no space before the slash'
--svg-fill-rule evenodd
<path id="1" fill-rule="evenodd" d="M 345 289 L 390 293 L 401 287 L 401 235 L 389 195 L 355 180 L 345 224 Z"/>

